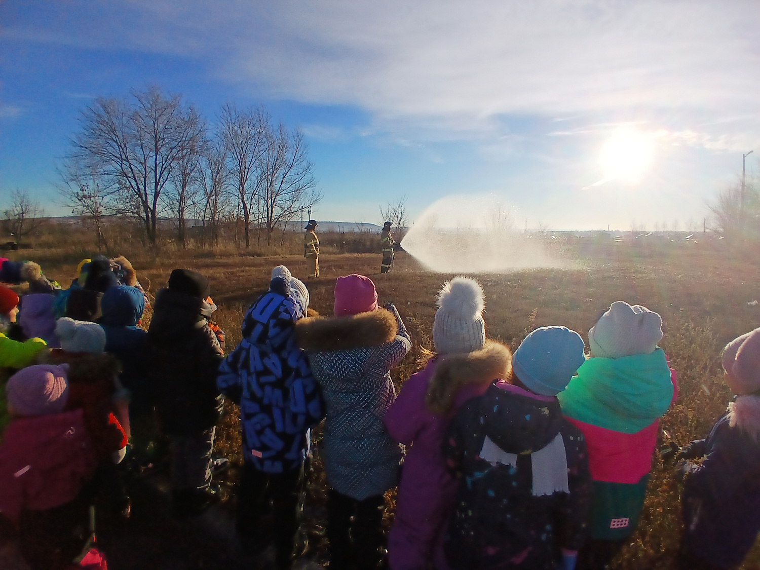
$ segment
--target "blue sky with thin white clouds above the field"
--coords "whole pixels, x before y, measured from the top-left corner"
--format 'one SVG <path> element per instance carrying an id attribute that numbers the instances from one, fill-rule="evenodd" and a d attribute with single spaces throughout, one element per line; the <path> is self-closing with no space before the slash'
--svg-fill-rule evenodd
<path id="1" fill-rule="evenodd" d="M 531 227 L 701 225 L 760 154 L 758 2 L 0 2 L 0 205 L 55 204 L 98 95 L 158 84 L 300 125 L 321 220 L 496 195 Z M 620 131 L 651 147 L 605 178 Z M 469 198 L 464 198 L 465 200 Z"/>

